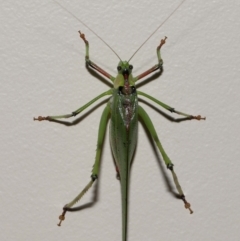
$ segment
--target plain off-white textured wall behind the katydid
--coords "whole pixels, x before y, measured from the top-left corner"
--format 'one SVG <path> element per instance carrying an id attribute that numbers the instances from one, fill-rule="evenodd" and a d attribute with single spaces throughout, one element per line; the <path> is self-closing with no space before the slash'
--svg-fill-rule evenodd
<path id="1" fill-rule="evenodd" d="M 180 1 L 60 2 L 128 59 Z M 194 214 L 169 192 L 161 157 L 140 125 L 129 241 L 240 238 L 239 14 L 238 0 L 188 0 L 131 61 L 135 75 L 151 67 L 159 40 L 168 36 L 163 75 L 140 89 L 207 120 L 174 123 L 142 104 Z M 78 30 L 90 42 L 92 60 L 113 75 L 118 59 L 51 0 L 1 1 L 0 18 L 0 240 L 121 240 L 120 187 L 108 135 L 98 201 L 56 225 L 62 206 L 90 180 L 104 105 L 73 126 L 33 121 L 70 113 L 108 89 L 85 69 Z M 172 183 L 165 167 L 164 173 Z M 93 190 L 80 204 L 92 200 Z"/>

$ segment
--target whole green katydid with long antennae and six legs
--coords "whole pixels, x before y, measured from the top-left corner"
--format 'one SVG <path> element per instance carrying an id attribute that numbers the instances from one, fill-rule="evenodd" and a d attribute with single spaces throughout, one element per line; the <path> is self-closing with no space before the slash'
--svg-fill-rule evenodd
<path id="1" fill-rule="evenodd" d="M 165 23 L 185 1 L 186 0 L 182 1 L 163 23 Z M 60 5 L 59 3 L 57 4 Z M 62 5 L 60 6 L 64 8 Z M 65 10 L 69 12 L 67 9 Z M 70 14 L 73 15 L 72 13 Z M 73 17 L 75 16 L 73 15 Z M 78 19 L 77 17 L 75 18 Z M 90 31 L 92 31 L 80 19 L 78 20 L 83 25 L 85 25 Z M 163 25 L 163 23 L 157 27 L 157 29 L 146 39 L 145 42 L 147 42 L 147 40 Z M 100 38 L 94 31 L 92 32 L 98 38 Z M 113 77 L 112 75 L 107 73 L 105 70 L 103 70 L 97 64 L 95 64 L 90 60 L 89 42 L 87 41 L 83 33 L 79 31 L 79 34 L 80 34 L 80 38 L 85 43 L 85 48 L 86 48 L 85 60 L 86 60 L 87 68 L 91 68 L 93 71 L 99 72 L 100 74 L 102 74 L 103 76 L 111 80 L 113 82 L 113 87 L 101 93 L 100 95 L 98 95 L 97 97 L 95 97 L 94 99 L 86 103 L 85 105 L 83 105 L 81 108 L 78 108 L 77 110 L 73 111 L 71 114 L 46 116 L 46 117 L 39 116 L 37 118 L 34 118 L 34 120 L 38 120 L 38 121 L 42 121 L 42 120 L 53 121 L 53 120 L 62 119 L 62 118 L 70 118 L 80 114 L 82 111 L 87 109 L 90 105 L 92 105 L 100 98 L 111 95 L 107 103 L 107 106 L 103 110 L 103 113 L 100 119 L 98 139 L 97 139 L 96 158 L 92 169 L 91 180 L 86 185 L 86 187 L 71 202 L 69 202 L 63 207 L 63 213 L 59 216 L 60 221 L 58 225 L 60 226 L 62 221 L 65 219 L 65 215 L 67 211 L 74 210 L 73 206 L 82 198 L 82 196 L 87 192 L 87 190 L 93 185 L 94 181 L 97 180 L 98 178 L 104 136 L 105 136 L 108 120 L 110 119 L 110 144 L 111 144 L 114 161 L 117 167 L 116 168 L 117 175 L 121 183 L 122 240 L 127 241 L 129 175 L 130 175 L 130 168 L 131 168 L 131 163 L 133 159 L 133 154 L 137 143 L 138 118 L 140 118 L 143 124 L 146 126 L 148 132 L 150 133 L 151 137 L 155 141 L 157 148 L 159 149 L 167 168 L 171 171 L 176 189 L 179 193 L 180 198 L 184 202 L 185 208 L 189 209 L 190 213 L 193 213 L 190 207 L 190 203 L 188 203 L 187 200 L 185 199 L 182 188 L 178 182 L 178 178 L 173 170 L 173 164 L 162 147 L 162 144 L 158 138 L 158 135 L 155 131 L 155 128 L 151 119 L 149 118 L 145 110 L 138 105 L 138 95 L 144 96 L 150 99 L 151 101 L 155 102 L 159 106 L 163 107 L 164 109 L 170 112 L 176 113 L 178 115 L 184 116 L 186 119 L 201 120 L 205 118 L 201 117 L 200 115 L 194 116 L 194 115 L 189 115 L 189 114 L 185 114 L 183 112 L 177 111 L 174 108 L 170 107 L 169 105 L 155 99 L 154 97 L 142 91 L 136 90 L 135 83 L 138 80 L 148 76 L 149 74 L 155 71 L 160 71 L 160 72 L 162 71 L 163 60 L 161 57 L 160 50 L 161 50 L 161 47 L 165 44 L 167 37 L 162 39 L 160 41 L 160 44 L 157 46 L 158 63 L 154 65 L 152 68 L 138 75 L 137 77 L 133 77 L 132 75 L 133 66 L 129 62 L 132 59 L 132 57 L 136 54 L 136 52 L 145 44 L 145 42 L 137 49 L 137 51 L 132 55 L 132 57 L 128 61 L 122 61 L 120 57 L 116 54 L 116 52 L 113 51 L 112 48 L 103 39 L 100 38 L 101 41 L 103 41 L 120 59 L 120 62 L 117 66 L 117 72 L 118 72 L 117 76 Z"/>

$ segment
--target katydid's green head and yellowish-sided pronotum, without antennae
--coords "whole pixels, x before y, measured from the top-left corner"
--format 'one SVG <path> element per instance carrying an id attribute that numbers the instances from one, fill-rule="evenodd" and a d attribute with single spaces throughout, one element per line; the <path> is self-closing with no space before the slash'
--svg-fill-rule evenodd
<path id="1" fill-rule="evenodd" d="M 135 91 L 135 82 L 132 76 L 133 66 L 128 61 L 120 61 L 117 66 L 118 75 L 114 81 L 114 88 L 124 95 Z"/>

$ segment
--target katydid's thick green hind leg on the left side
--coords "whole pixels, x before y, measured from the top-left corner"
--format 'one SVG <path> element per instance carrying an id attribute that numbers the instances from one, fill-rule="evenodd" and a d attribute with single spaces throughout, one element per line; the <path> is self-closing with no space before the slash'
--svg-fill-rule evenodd
<path id="1" fill-rule="evenodd" d="M 71 210 L 72 206 L 75 205 L 82 198 L 82 196 L 88 191 L 88 189 L 92 186 L 94 181 L 98 178 L 103 141 L 104 141 L 104 136 L 106 133 L 106 127 L 107 127 L 109 115 L 110 115 L 110 107 L 109 107 L 109 104 L 107 104 L 107 106 L 105 107 L 105 109 L 102 113 L 100 124 L 99 124 L 97 151 L 96 151 L 95 162 L 94 162 L 93 169 L 92 169 L 91 180 L 86 185 L 86 187 L 71 202 L 69 202 L 68 204 L 66 204 L 63 207 L 63 212 L 59 216 L 60 221 L 58 223 L 58 226 L 61 226 L 62 221 L 65 219 L 66 212 Z"/>

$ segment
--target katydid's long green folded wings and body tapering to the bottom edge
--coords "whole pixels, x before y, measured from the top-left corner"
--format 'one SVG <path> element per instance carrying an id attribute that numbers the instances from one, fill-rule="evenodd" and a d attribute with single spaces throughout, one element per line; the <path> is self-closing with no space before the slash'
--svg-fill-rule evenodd
<path id="1" fill-rule="evenodd" d="M 135 87 L 130 87 L 130 94 L 124 92 L 124 87 L 114 89 L 109 104 L 111 106 L 110 143 L 121 182 L 122 240 L 126 241 L 130 167 L 138 132 L 138 103 Z"/>

